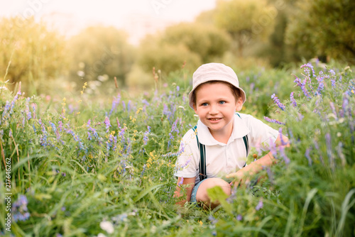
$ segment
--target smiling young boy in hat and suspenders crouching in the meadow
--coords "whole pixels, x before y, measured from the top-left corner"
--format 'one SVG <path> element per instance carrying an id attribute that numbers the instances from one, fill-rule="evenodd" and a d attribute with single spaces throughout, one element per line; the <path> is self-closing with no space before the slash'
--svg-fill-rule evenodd
<path id="1" fill-rule="evenodd" d="M 180 144 L 183 152 L 176 162 L 175 197 L 183 195 L 181 184 L 189 184 L 186 199 L 178 204 L 197 202 L 214 208 L 218 203 L 210 202 L 207 189 L 219 186 L 230 195 L 231 184 L 223 180 L 224 177 L 234 178 L 234 185 L 238 187 L 264 166 L 275 162 L 269 152 L 246 166 L 250 145 L 269 150 L 271 144 L 282 145 L 282 140 L 285 144 L 288 138 L 253 116 L 236 114 L 246 101 L 246 94 L 230 67 L 220 63 L 200 66 L 192 77 L 192 87 L 189 105 L 200 119 Z"/>

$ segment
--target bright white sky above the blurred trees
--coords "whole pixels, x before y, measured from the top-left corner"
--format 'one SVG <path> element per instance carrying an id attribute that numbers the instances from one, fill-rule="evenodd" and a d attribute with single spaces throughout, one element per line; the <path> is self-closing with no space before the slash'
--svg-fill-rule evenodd
<path id="1" fill-rule="evenodd" d="M 146 33 L 193 21 L 215 5 L 216 0 L 0 0 L 0 17 L 34 16 L 67 36 L 87 26 L 116 26 L 138 43 Z"/>

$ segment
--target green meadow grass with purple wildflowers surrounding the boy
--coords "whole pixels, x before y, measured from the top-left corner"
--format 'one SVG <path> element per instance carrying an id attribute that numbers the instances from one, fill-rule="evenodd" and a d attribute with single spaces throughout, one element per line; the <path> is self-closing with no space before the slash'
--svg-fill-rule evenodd
<path id="1" fill-rule="evenodd" d="M 241 112 L 280 121 L 265 122 L 281 128 L 291 147 L 276 154 L 280 161 L 261 172 L 258 186 L 234 190 L 214 211 L 179 209 L 172 198 L 180 138 L 197 122 L 185 74 L 134 98 L 87 99 L 83 87 L 75 97 L 46 101 L 1 89 L 0 213 L 9 213 L 9 159 L 13 219 L 11 232 L 0 219 L 0 235 L 354 235 L 351 68 L 243 73 L 248 101 Z"/>

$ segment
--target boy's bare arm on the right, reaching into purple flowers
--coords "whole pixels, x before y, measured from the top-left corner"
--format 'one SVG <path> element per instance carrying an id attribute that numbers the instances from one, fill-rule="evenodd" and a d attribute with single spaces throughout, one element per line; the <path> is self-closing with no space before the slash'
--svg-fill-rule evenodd
<path id="1" fill-rule="evenodd" d="M 282 139 L 281 139 L 282 136 Z M 282 141 L 285 145 L 282 145 Z M 288 138 L 286 136 L 283 136 L 280 134 L 278 138 L 275 140 L 275 145 L 279 148 L 285 148 L 289 147 L 290 144 L 288 143 Z M 259 171 L 263 170 L 263 167 L 266 166 L 271 166 L 273 163 L 275 163 L 277 160 L 273 157 L 273 153 L 269 152 L 268 154 L 264 155 L 262 158 L 251 162 L 250 165 L 242 168 L 241 170 L 238 170 L 237 172 L 231 173 L 229 175 L 226 175 L 227 178 L 230 177 L 236 177 L 236 182 L 234 182 L 234 185 L 238 187 L 240 182 L 245 182 L 245 177 L 250 177 L 251 175 L 255 175 Z"/>

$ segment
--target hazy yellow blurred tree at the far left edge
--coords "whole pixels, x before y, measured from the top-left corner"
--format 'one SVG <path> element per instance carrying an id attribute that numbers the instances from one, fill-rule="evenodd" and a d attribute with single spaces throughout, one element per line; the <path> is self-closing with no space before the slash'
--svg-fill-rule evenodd
<path id="1" fill-rule="evenodd" d="M 34 18 L 2 18 L 0 20 L 0 72 L 9 70 L 11 88 L 22 82 L 22 91 L 29 94 L 43 92 L 43 83 L 58 77 L 65 67 L 65 40 L 48 31 L 45 23 Z M 11 63 L 9 64 L 9 62 Z"/>

